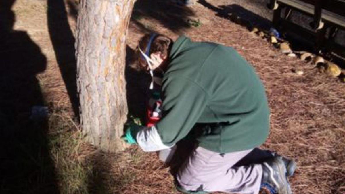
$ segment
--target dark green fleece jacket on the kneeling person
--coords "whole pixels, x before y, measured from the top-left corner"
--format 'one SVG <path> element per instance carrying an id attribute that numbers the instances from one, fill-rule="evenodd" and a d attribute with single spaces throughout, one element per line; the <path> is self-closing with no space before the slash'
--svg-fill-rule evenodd
<path id="1" fill-rule="evenodd" d="M 162 84 L 162 119 L 157 132 L 170 146 L 197 123 L 199 146 L 219 153 L 263 144 L 269 133 L 265 89 L 236 50 L 182 36 L 174 42 Z"/>

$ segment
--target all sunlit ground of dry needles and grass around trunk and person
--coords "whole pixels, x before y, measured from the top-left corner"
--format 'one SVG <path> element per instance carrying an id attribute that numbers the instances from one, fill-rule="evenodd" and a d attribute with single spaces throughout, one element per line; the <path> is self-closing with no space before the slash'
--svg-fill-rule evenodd
<path id="1" fill-rule="evenodd" d="M 78 124 L 71 116 L 71 104 L 52 52 L 47 27 L 38 30 L 40 27 L 35 19 L 28 20 L 31 17 L 41 24 L 46 23 L 46 12 L 41 9 L 45 8 L 45 3 L 29 2 L 33 3 L 31 11 L 23 9 L 23 0 L 18 0 L 14 11 L 21 16 L 17 18 L 18 28 L 31 32 L 31 38 L 47 57 L 47 69 L 38 80 L 53 112 L 48 137 L 60 192 L 178 193 L 170 169 L 158 161 L 155 153 L 144 153 L 134 146 L 119 154 L 109 154 L 83 141 L 76 130 Z M 280 54 L 265 39 L 228 19 L 217 17 L 200 4 L 193 10 L 196 13 L 194 20 L 200 19 L 202 26 L 182 31 L 195 41 L 214 41 L 234 47 L 255 67 L 262 79 L 272 113 L 271 133 L 262 147 L 297 161 L 296 174 L 290 180 L 294 193 L 345 193 L 344 84 L 318 73 L 303 61 Z M 140 22 L 173 38 L 178 36 L 157 20 L 142 17 Z M 75 23 L 70 22 L 70 25 L 75 29 Z M 135 48 L 144 32 L 131 22 L 128 45 Z M 298 76 L 291 69 L 305 73 Z"/>

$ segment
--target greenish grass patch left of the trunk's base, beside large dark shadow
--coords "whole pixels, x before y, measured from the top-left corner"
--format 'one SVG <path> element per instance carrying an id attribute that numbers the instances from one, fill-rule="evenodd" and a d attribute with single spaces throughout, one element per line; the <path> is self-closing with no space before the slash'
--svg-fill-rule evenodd
<path id="1" fill-rule="evenodd" d="M 50 155 L 56 168 L 61 193 L 88 193 L 88 174 L 91 166 L 80 160 L 79 150 L 82 135 L 73 130 L 74 123 L 62 113 L 53 113 L 49 118 Z"/>

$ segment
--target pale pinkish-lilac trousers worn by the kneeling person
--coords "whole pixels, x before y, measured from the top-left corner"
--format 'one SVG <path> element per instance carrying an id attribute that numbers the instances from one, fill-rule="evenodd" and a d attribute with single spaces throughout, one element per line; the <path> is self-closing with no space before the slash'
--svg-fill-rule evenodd
<path id="1" fill-rule="evenodd" d="M 252 149 L 219 154 L 198 147 L 176 175 L 180 186 L 189 191 L 259 193 L 261 164 L 233 167 Z"/>

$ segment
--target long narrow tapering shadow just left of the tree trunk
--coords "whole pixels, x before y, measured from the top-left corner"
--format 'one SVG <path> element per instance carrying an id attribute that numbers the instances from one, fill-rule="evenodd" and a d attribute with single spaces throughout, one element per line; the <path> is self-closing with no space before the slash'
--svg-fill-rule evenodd
<path id="1" fill-rule="evenodd" d="M 73 112 L 79 120 L 79 97 L 77 92 L 77 61 L 75 58 L 75 38 L 68 24 L 67 11 L 63 0 L 48 0 L 48 30 L 60 68 L 62 79 L 72 104 Z"/>

